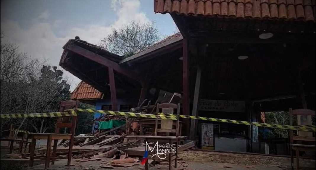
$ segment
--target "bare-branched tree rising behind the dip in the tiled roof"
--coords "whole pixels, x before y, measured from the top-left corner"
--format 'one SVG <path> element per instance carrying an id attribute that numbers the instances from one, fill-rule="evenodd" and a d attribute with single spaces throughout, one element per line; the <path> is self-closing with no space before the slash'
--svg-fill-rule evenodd
<path id="1" fill-rule="evenodd" d="M 126 58 L 155 44 L 159 38 L 154 22 L 140 24 L 131 21 L 120 29 L 113 28 L 112 33 L 101 40 L 100 46 Z"/>

